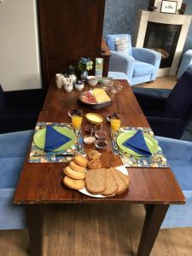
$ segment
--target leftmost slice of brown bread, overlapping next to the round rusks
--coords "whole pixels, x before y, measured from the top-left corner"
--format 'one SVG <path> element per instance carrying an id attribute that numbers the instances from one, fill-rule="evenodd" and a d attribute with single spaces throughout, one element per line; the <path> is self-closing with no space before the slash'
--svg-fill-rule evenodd
<path id="1" fill-rule="evenodd" d="M 85 177 L 85 186 L 90 194 L 102 194 L 106 189 L 106 169 L 88 170 Z"/>

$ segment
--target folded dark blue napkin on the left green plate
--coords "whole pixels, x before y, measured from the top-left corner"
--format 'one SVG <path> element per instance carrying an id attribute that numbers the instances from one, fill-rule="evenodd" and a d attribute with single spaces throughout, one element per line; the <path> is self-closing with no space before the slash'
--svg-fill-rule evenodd
<path id="1" fill-rule="evenodd" d="M 63 144 L 68 143 L 70 140 L 70 137 L 67 137 L 56 131 L 54 126 L 47 125 L 44 150 L 52 151 L 61 147 Z"/>

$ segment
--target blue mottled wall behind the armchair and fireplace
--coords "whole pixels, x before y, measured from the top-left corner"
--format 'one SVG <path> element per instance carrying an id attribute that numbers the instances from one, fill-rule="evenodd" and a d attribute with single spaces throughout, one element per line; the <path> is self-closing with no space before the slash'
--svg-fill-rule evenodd
<path id="1" fill-rule="evenodd" d="M 192 15 L 192 0 L 183 3 L 187 3 L 185 14 Z M 130 33 L 134 37 L 138 9 L 148 9 L 148 0 L 106 0 L 103 36 Z M 192 49 L 192 22 L 184 45 L 184 51 L 187 49 Z"/>

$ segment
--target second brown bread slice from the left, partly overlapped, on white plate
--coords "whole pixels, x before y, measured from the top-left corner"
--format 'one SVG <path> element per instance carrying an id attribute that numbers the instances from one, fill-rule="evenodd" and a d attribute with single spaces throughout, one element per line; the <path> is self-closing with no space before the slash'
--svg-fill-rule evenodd
<path id="1" fill-rule="evenodd" d="M 106 169 L 106 189 L 102 192 L 102 195 L 110 196 L 115 195 L 118 192 L 118 185 L 113 177 L 111 169 Z"/>

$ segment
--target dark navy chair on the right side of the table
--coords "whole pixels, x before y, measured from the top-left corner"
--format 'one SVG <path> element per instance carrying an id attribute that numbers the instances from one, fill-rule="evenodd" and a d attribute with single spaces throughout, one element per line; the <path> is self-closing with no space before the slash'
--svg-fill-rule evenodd
<path id="1" fill-rule="evenodd" d="M 168 97 L 135 92 L 155 135 L 180 139 L 192 119 L 192 74 L 185 72 Z"/>

